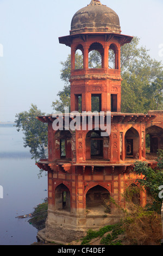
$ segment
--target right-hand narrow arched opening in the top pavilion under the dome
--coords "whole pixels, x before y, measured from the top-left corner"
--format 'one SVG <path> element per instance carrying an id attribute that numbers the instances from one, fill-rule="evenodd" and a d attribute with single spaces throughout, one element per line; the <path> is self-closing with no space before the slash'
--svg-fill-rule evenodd
<path id="1" fill-rule="evenodd" d="M 118 69 L 118 54 L 115 44 L 111 44 L 109 47 L 109 69 Z"/>

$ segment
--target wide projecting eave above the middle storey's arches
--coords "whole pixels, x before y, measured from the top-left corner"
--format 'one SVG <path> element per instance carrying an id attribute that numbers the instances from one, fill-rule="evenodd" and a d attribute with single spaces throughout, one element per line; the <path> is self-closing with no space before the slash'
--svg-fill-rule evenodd
<path id="1" fill-rule="evenodd" d="M 78 113 L 77 115 L 79 115 L 82 118 L 82 113 Z M 87 116 L 87 114 L 85 114 Z M 100 115 L 100 113 L 99 113 Z M 107 115 L 107 113 L 104 113 L 105 117 Z M 53 123 L 53 121 L 57 118 L 63 118 L 63 120 L 65 120 L 65 118 L 69 119 L 69 121 L 71 121 L 72 119 L 74 119 L 74 117 L 76 117 L 76 115 L 68 113 L 68 114 L 55 114 L 55 115 L 46 115 L 46 116 L 39 116 L 36 117 L 39 121 L 41 121 L 42 123 Z M 153 119 L 155 119 L 156 115 L 155 114 L 137 114 L 137 113 L 120 113 L 120 112 L 111 112 L 111 123 L 146 123 L 147 121 L 152 121 Z M 92 115 L 92 118 L 94 118 L 94 116 Z"/>

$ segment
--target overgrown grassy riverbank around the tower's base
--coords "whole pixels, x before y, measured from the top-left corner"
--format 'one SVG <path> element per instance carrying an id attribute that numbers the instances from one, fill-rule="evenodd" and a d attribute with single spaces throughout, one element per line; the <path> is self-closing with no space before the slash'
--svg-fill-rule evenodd
<path id="1" fill-rule="evenodd" d="M 38 231 L 45 228 L 47 218 L 47 199 L 42 204 L 37 205 L 32 217 L 28 220 Z M 134 205 L 135 214 L 126 221 L 107 225 L 98 230 L 87 230 L 85 237 L 78 241 L 72 241 L 68 245 L 161 245 L 162 230 L 161 216 L 155 212 L 140 210 L 137 215 L 137 208 Z M 129 216 L 128 216 L 129 217 Z M 132 228 L 131 228 L 132 227 Z M 133 231 L 132 231 L 133 230 Z M 58 245 L 54 242 L 34 242 L 32 245 Z"/>

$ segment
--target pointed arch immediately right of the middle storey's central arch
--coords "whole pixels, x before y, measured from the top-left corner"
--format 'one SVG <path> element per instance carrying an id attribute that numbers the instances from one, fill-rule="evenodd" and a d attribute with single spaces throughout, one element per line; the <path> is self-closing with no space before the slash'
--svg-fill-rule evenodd
<path id="1" fill-rule="evenodd" d="M 140 137 L 133 127 L 131 127 L 125 135 L 126 157 L 131 159 L 139 159 Z"/>

